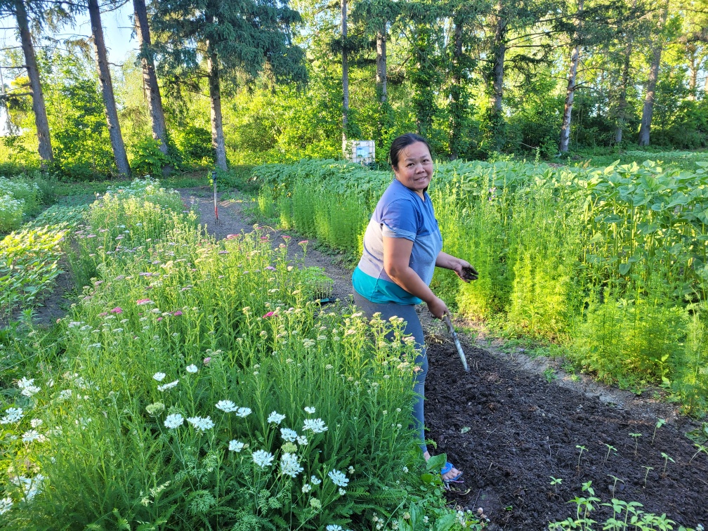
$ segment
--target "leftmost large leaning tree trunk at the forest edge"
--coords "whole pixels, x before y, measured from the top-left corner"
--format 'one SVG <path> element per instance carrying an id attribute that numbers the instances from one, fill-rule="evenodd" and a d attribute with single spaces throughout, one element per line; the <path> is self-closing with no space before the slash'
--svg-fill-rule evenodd
<path id="1" fill-rule="evenodd" d="M 32 42 L 32 35 L 30 34 L 30 22 L 23 0 L 15 1 L 15 13 L 17 16 L 17 27 L 20 31 L 22 51 L 25 54 L 27 76 L 30 78 L 32 110 L 35 113 L 35 125 L 37 126 L 37 139 L 39 143 L 38 151 L 40 160 L 42 161 L 42 167 L 45 167 L 48 162 L 54 161 L 54 154 L 52 153 L 52 140 L 50 139 L 49 122 L 47 121 L 47 107 L 44 101 L 44 93 L 42 93 L 35 47 Z"/>

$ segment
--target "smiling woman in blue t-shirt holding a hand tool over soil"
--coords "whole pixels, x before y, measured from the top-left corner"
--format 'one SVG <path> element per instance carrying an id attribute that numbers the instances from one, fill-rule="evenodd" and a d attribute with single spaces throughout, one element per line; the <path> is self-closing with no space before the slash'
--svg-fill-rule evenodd
<path id="1" fill-rule="evenodd" d="M 430 313 L 442 319 L 450 311 L 428 287 L 435 266 L 455 271 L 465 282 L 476 278 L 476 271 L 466 261 L 442 252 L 438 221 L 426 193 L 433 176 L 426 139 L 412 133 L 397 137 L 391 144 L 389 160 L 396 178 L 377 203 L 364 234 L 364 252 L 352 276 L 354 301 L 369 316 L 380 312 L 382 319 L 401 317 L 406 321 L 405 333 L 416 340 L 420 350 L 416 363 L 421 371 L 414 387 L 418 399 L 413 405 L 413 418 L 427 461 L 430 453 L 425 443 L 423 398 L 428 358 L 415 305 L 426 302 Z M 450 463 L 441 474 L 446 482 L 462 476 Z"/>

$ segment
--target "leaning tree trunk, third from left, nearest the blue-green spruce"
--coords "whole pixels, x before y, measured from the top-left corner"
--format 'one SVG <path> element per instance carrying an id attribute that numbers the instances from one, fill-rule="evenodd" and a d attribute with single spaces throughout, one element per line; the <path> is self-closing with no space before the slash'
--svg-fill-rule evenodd
<path id="1" fill-rule="evenodd" d="M 142 81 L 145 90 L 145 99 L 152 122 L 152 137 L 160 142 L 160 151 L 167 154 L 167 128 L 165 126 L 165 113 L 162 108 L 160 87 L 157 84 L 155 64 L 153 60 L 152 40 L 150 28 L 147 24 L 147 8 L 145 0 L 133 0 L 135 9 L 135 33 L 137 34 L 140 49 L 140 64 L 142 66 Z"/>

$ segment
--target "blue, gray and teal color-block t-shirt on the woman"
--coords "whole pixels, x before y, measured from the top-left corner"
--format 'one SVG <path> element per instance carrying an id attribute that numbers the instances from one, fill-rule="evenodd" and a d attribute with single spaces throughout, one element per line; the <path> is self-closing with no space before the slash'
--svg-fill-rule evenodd
<path id="1" fill-rule="evenodd" d="M 371 302 L 418 304 L 421 299 L 397 285 L 384 270 L 384 236 L 413 242 L 409 265 L 430 285 L 435 259 L 442 251 L 442 236 L 428 193 L 425 200 L 394 179 L 381 196 L 364 234 L 364 252 L 352 282 L 359 295 Z"/>

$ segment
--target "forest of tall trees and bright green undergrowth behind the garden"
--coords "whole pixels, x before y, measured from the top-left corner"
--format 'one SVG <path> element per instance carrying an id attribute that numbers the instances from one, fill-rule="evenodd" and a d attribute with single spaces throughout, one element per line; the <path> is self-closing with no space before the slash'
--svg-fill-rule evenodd
<path id="1" fill-rule="evenodd" d="M 343 137 L 383 163 L 411 130 L 440 159 L 708 144 L 704 0 L 135 0 L 139 52 L 108 64 L 101 11 L 122 4 L 0 2 L 22 44 L 5 173 L 332 158 Z M 57 36 L 87 11 L 90 38 Z"/>

